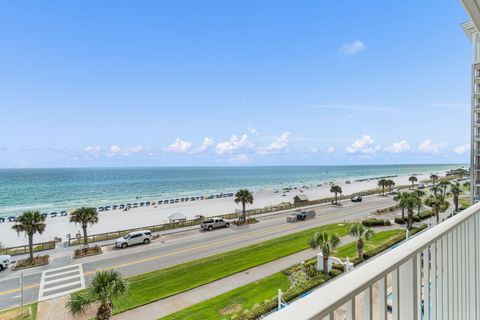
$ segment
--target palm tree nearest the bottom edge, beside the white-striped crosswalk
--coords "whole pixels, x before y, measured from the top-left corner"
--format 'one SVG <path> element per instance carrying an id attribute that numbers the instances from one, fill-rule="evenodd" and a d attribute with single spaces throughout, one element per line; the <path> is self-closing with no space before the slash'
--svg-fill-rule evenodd
<path id="1" fill-rule="evenodd" d="M 85 308 L 100 303 L 97 320 L 108 320 L 114 309 L 113 299 L 128 293 L 128 284 L 118 271 L 97 271 L 86 291 L 73 294 L 67 308 L 73 315 L 84 314 Z"/>

